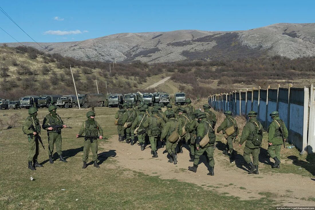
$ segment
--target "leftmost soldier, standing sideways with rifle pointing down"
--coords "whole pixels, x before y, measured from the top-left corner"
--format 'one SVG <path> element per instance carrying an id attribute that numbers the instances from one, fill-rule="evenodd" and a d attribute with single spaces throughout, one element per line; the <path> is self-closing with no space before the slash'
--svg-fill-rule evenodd
<path id="1" fill-rule="evenodd" d="M 40 124 L 37 119 L 37 108 L 31 107 L 28 110 L 29 116 L 26 118 L 22 130 L 28 137 L 28 168 L 31 170 L 36 170 L 35 167 L 43 167 L 37 162 L 37 157 L 39 154 L 39 143 L 40 138 Z M 32 165 L 32 161 L 34 165 Z"/>

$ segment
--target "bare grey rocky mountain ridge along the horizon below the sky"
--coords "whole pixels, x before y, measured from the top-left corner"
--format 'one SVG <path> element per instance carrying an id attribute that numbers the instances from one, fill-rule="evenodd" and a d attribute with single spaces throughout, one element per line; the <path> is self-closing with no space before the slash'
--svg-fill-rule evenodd
<path id="1" fill-rule="evenodd" d="M 7 43 L 18 46 L 16 43 Z M 41 49 L 36 43 L 23 43 Z M 47 51 L 82 60 L 147 63 L 181 60 L 315 56 L 315 23 L 278 23 L 235 32 L 180 30 L 118 33 L 78 42 L 41 43 Z"/>

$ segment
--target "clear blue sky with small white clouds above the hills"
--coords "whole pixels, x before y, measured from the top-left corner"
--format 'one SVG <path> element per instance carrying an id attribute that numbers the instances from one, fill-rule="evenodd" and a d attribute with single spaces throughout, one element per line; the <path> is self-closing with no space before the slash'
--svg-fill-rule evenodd
<path id="1" fill-rule="evenodd" d="M 79 41 L 115 33 L 198 29 L 248 30 L 274 23 L 315 22 L 315 1 L 0 1 L 37 42 Z M 0 27 L 32 41 L 0 12 Z M 0 29 L 0 42 L 15 42 Z"/>

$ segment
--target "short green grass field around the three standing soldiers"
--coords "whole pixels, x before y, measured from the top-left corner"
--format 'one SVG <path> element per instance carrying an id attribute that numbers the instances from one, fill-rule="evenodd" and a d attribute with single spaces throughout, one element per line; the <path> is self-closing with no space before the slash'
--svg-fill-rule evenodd
<path id="1" fill-rule="evenodd" d="M 72 129 L 62 130 L 63 155 L 68 163 L 59 162 L 55 154 L 54 158 L 57 160 L 54 164 L 49 164 L 47 135 L 43 131 L 41 135 L 46 150 L 40 147 L 38 161 L 44 167 L 37 168 L 36 171 L 27 168 L 27 137 L 21 130 L 27 110 L 0 112 L 4 123 L 14 113 L 18 114 L 14 115 L 18 118 L 17 127 L 0 130 L 0 209 L 274 209 L 273 206 L 278 204 L 278 201 L 273 200 L 272 194 L 268 193 L 261 199 L 240 200 L 238 197 L 219 194 L 192 183 L 161 179 L 123 168 L 112 158 L 119 148 L 99 147 L 100 168 L 89 165 L 83 170 L 83 139 L 77 139 L 75 135 L 86 119 L 87 111 L 57 110 L 65 123 L 72 126 Z M 117 108 L 96 108 L 95 119 L 102 126 L 107 138 L 117 133 L 113 124 L 116 111 Z M 47 109 L 39 110 L 40 122 L 47 113 Z M 220 136 L 217 140 L 220 141 Z M 292 149 L 288 153 L 306 162 L 307 167 L 312 167 L 306 156 L 299 156 Z M 288 153 L 283 155 L 288 156 Z M 279 172 L 297 171 L 301 175 L 311 176 L 306 167 L 301 166 L 301 170 L 295 171 L 286 167 Z M 30 177 L 35 180 L 31 181 Z"/>

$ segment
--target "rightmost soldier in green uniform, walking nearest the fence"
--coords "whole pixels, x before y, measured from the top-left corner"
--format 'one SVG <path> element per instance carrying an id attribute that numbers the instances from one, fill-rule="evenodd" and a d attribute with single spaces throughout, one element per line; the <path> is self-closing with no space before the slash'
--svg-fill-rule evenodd
<path id="1" fill-rule="evenodd" d="M 272 122 L 268 128 L 268 154 L 275 160 L 272 168 L 280 168 L 281 146 L 287 140 L 289 134 L 283 120 L 279 117 L 278 111 L 273 111 L 270 116 Z"/>

